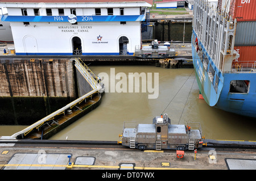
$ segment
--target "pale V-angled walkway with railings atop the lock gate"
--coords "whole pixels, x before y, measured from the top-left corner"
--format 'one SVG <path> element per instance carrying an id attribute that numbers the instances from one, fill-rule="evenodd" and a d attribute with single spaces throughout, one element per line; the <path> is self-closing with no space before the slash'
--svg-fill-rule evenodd
<path id="1" fill-rule="evenodd" d="M 29 127 L 23 129 L 22 131 L 19 131 L 17 133 L 14 133 L 11 136 L 0 136 L 0 140 L 16 140 L 16 137 L 26 136 L 28 133 L 30 133 L 33 129 L 38 129 L 41 127 L 44 123 L 47 123 L 49 120 L 53 120 L 56 115 L 60 115 L 61 113 L 64 113 L 67 110 L 70 110 L 72 107 L 76 106 L 77 103 L 82 102 L 85 98 L 88 98 L 92 96 L 96 92 L 103 92 L 104 86 L 101 83 L 100 79 L 96 75 L 93 74 L 93 72 L 84 64 L 84 62 L 79 58 L 72 59 L 75 61 L 75 66 L 77 70 L 80 71 L 80 73 L 83 75 L 83 77 L 86 79 L 86 81 L 89 83 L 89 85 L 92 87 L 92 91 L 86 93 L 85 95 L 81 96 L 80 98 L 74 100 L 73 102 L 67 104 L 63 108 L 60 108 L 59 110 L 49 114 L 48 116 L 44 117 L 43 119 L 37 121 L 36 123 L 30 125 Z M 94 78 L 95 77 L 95 78 Z"/>

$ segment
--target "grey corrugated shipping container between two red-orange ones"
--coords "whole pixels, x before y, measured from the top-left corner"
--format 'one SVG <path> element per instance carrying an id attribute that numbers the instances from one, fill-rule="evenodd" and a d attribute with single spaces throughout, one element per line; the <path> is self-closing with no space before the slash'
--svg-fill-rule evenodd
<path id="1" fill-rule="evenodd" d="M 234 45 L 256 45 L 256 21 L 237 22 L 236 38 Z"/>

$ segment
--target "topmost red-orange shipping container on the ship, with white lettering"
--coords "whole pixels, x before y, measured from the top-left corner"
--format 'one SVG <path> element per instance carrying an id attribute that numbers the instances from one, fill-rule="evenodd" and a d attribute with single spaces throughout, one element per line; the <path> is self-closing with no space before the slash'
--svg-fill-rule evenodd
<path id="1" fill-rule="evenodd" d="M 255 0 L 218 0 L 218 10 L 226 12 L 237 21 L 256 20 Z"/>

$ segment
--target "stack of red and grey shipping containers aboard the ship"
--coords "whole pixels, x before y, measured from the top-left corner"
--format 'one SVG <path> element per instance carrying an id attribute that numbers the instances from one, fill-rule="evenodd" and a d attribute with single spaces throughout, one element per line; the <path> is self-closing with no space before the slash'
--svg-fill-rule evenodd
<path id="1" fill-rule="evenodd" d="M 218 0 L 218 11 L 237 20 L 234 49 L 240 57 L 233 65 L 256 68 L 256 1 Z"/>

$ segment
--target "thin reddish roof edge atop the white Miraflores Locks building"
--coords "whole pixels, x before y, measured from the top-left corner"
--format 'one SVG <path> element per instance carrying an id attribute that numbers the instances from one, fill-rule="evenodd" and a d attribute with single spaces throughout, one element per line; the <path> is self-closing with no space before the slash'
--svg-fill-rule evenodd
<path id="1" fill-rule="evenodd" d="M 118 3 L 118 2 L 147 2 L 153 0 L 0 0 L 0 3 Z"/>

